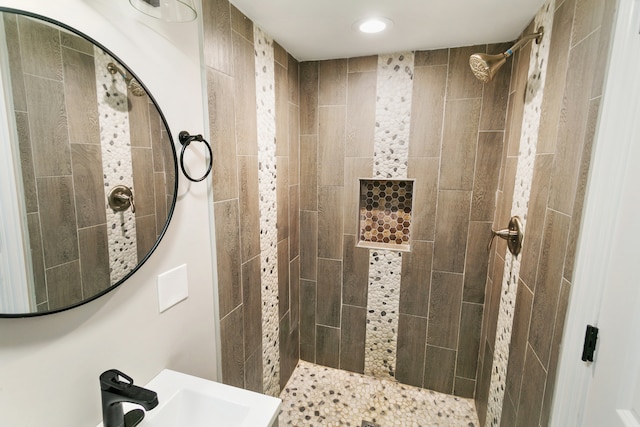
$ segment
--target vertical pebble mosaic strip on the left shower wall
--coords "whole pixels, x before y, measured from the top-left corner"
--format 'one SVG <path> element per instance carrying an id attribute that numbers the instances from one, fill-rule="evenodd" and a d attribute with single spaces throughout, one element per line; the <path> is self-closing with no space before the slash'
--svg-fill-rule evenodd
<path id="1" fill-rule="evenodd" d="M 260 264 L 262 268 L 263 390 L 280 393 L 278 316 L 278 230 L 276 226 L 276 101 L 273 40 L 254 25 L 260 191 Z"/>

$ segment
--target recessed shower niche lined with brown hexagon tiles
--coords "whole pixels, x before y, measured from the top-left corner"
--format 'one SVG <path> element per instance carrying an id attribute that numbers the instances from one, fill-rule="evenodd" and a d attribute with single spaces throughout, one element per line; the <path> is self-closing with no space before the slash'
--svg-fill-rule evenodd
<path id="1" fill-rule="evenodd" d="M 358 247 L 411 249 L 413 180 L 360 179 Z"/>

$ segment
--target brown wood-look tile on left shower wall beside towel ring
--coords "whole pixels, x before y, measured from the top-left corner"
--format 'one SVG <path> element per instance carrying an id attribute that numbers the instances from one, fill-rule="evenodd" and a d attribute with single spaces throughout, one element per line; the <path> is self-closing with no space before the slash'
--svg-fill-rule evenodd
<path id="1" fill-rule="evenodd" d="M 253 23 L 203 1 L 222 381 L 263 391 L 260 212 Z M 274 44 L 280 384 L 298 362 L 300 324 L 298 63 Z"/>

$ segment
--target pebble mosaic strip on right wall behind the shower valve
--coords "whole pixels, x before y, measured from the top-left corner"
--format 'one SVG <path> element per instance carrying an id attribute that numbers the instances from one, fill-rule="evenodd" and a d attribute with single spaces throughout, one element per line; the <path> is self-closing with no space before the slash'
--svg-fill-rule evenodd
<path id="1" fill-rule="evenodd" d="M 542 42 L 532 45 L 529 59 L 529 75 L 524 106 L 524 119 L 520 137 L 520 152 L 516 170 L 516 185 L 513 193 L 511 215 L 518 215 L 522 219 L 525 229 L 527 224 L 527 209 L 531 195 L 533 181 L 533 167 L 536 158 L 538 130 L 540 128 L 542 92 L 546 79 L 547 59 L 551 41 L 551 28 L 555 1 L 548 0 L 535 18 L 535 28 L 543 25 L 545 34 Z M 504 276 L 502 278 L 502 292 L 500 310 L 498 312 L 498 326 L 496 333 L 493 365 L 491 367 L 491 385 L 489 388 L 489 402 L 487 407 L 486 425 L 497 427 L 500 425 L 502 404 L 504 401 L 507 365 L 509 362 L 509 344 L 513 329 L 513 316 L 518 291 L 518 275 L 520 273 L 520 259 L 507 252 Z"/>

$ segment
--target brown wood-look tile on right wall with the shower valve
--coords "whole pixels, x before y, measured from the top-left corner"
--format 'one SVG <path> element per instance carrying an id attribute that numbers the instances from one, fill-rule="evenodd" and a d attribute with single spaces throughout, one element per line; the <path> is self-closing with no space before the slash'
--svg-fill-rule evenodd
<path id="1" fill-rule="evenodd" d="M 615 3 L 564 0 L 555 5 L 509 349 L 503 426 L 549 423 Z M 509 96 L 508 150 L 502 159 L 495 227 L 507 223 L 513 200 L 528 58 L 528 50 L 523 50 L 514 63 L 517 71 Z M 487 280 L 476 393 L 483 425 L 505 250 L 502 242 L 495 246 Z"/>

